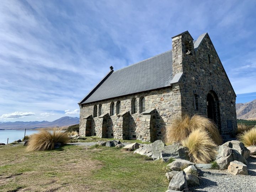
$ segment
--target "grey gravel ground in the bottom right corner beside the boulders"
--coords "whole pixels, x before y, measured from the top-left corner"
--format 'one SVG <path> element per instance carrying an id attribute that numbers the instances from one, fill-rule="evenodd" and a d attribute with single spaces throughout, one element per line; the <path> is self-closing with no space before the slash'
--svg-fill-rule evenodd
<path id="1" fill-rule="evenodd" d="M 249 175 L 230 175 L 226 170 L 210 170 L 212 173 L 223 173 L 222 176 L 201 177 L 200 186 L 190 188 L 192 192 L 256 192 L 256 158 L 247 159 Z"/>

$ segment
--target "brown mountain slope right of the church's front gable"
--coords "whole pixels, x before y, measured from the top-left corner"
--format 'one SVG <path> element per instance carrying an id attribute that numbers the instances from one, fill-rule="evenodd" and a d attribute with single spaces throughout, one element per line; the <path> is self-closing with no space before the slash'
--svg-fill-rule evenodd
<path id="1" fill-rule="evenodd" d="M 237 103 L 236 117 L 238 119 L 256 120 L 256 99 L 247 103 Z"/>

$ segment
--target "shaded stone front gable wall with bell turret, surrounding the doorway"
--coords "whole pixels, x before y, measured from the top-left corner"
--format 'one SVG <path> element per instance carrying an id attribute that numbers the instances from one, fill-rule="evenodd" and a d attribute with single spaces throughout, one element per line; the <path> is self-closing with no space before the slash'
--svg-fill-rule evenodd
<path id="1" fill-rule="evenodd" d="M 190 54 L 186 54 L 186 43 L 190 43 Z M 233 134 L 237 129 L 236 96 L 208 34 L 204 36 L 196 51 L 188 32 L 173 38 L 172 45 L 174 70 L 183 72 L 180 84 L 182 114 L 198 113 L 208 116 L 207 94 L 209 91 L 214 92 L 219 100 L 221 133 Z M 181 55 L 180 50 L 182 60 L 178 57 Z M 194 107 L 194 94 L 197 95 L 198 110 Z"/>

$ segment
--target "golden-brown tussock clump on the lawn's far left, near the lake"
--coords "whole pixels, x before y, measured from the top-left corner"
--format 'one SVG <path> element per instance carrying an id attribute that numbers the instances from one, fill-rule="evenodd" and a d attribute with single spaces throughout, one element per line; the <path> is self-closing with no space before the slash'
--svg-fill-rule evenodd
<path id="1" fill-rule="evenodd" d="M 68 143 L 68 135 L 62 129 L 54 129 L 52 132 L 40 130 L 39 133 L 30 135 L 27 151 L 44 151 L 54 149 L 55 143 Z"/>

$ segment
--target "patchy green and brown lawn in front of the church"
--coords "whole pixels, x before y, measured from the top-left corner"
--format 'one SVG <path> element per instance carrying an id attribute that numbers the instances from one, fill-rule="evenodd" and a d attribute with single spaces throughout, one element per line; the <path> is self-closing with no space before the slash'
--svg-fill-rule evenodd
<path id="1" fill-rule="evenodd" d="M 0 191 L 166 191 L 167 163 L 106 146 L 0 146 Z"/>

